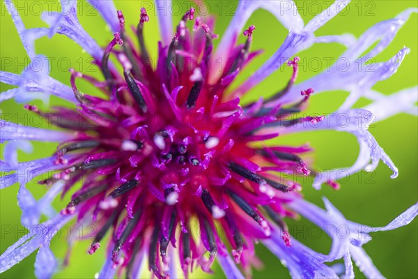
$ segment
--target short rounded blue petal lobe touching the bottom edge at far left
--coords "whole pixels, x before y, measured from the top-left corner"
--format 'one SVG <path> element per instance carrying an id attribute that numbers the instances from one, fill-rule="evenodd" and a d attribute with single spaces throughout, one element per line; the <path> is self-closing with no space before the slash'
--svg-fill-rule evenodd
<path id="1" fill-rule="evenodd" d="M 58 263 L 51 249 L 40 246 L 35 260 L 35 276 L 39 279 L 51 278 L 56 271 Z"/>

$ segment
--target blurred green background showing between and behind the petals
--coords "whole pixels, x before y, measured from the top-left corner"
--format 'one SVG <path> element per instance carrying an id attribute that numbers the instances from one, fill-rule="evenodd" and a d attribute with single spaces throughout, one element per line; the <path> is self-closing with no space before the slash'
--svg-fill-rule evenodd
<path id="1" fill-rule="evenodd" d="M 55 1 L 15 1 L 20 15 L 26 27 L 46 27 L 40 20 L 42 10 L 59 10 L 59 4 Z M 316 13 L 330 5 L 332 1 L 296 1 L 300 14 L 304 22 L 310 20 Z M 180 18 L 179 8 L 183 8 L 183 13 L 187 6 L 192 2 L 176 2 L 173 6 L 174 22 Z M 206 10 L 216 17 L 215 33 L 222 36 L 227 24 L 231 20 L 236 1 L 209 1 L 201 7 L 201 12 Z M 139 8 L 141 6 L 150 7 L 152 1 L 116 1 L 116 8 L 123 10 L 127 24 L 137 24 L 139 19 Z M 98 13 L 86 3 L 79 1 L 79 20 L 100 45 L 106 45 L 111 40 L 111 32 L 105 27 L 102 18 Z M 405 8 L 417 7 L 418 2 L 411 1 L 352 1 L 347 10 L 342 15 L 336 16 L 331 22 L 320 28 L 316 35 L 353 33 L 360 36 L 366 29 L 382 20 L 387 20 L 400 13 Z M 150 9 L 148 9 L 150 10 Z M 198 10 L 199 11 L 199 10 Z M 151 56 L 156 56 L 157 40 L 159 32 L 155 14 L 148 12 L 150 22 L 146 23 L 146 45 Z M 281 42 L 286 37 L 287 31 L 277 22 L 277 20 L 265 10 L 258 10 L 251 16 L 248 24 L 256 25 L 254 33 L 253 50 L 263 49 L 265 52 L 240 75 L 239 82 L 245 80 L 254 70 L 270 57 L 277 50 Z M 386 61 L 392 57 L 404 45 L 410 47 L 411 52 L 406 56 L 405 61 L 398 73 L 389 80 L 378 83 L 374 89 L 382 93 L 394 93 L 417 84 L 417 15 L 412 15 L 407 24 L 398 32 L 391 45 L 376 57 L 376 61 Z M 29 57 L 26 56 L 24 48 L 20 43 L 20 38 L 15 31 L 13 22 L 8 15 L 5 6 L 1 4 L 1 70 L 20 73 L 27 63 Z M 323 57 L 338 57 L 344 48 L 336 44 L 315 45 L 304 52 L 298 54 L 301 58 L 312 59 L 320 58 L 322 65 L 304 67 L 301 70 L 298 80 L 305 80 L 316 75 L 326 66 Z M 101 73 L 89 66 L 88 55 L 82 51 L 81 47 L 73 43 L 64 36 L 54 36 L 52 39 L 41 38 L 36 43 L 36 51 L 45 54 L 51 60 L 51 75 L 65 84 L 69 84 L 70 73 L 68 68 L 76 68 L 84 73 L 89 73 L 101 77 Z M 318 67 L 317 67 L 318 66 Z M 268 77 L 262 84 L 251 91 L 247 100 L 256 99 L 261 94 L 268 95 L 281 89 L 291 75 L 291 68 L 282 68 Z M 235 83 L 239 84 L 239 82 Z M 78 84 L 77 84 L 78 85 Z M 0 84 L 1 91 L 6 91 L 11 86 Z M 84 92 L 94 92 L 95 89 L 80 82 L 79 89 Z M 309 106 L 310 113 L 324 114 L 333 112 L 343 102 L 348 93 L 346 92 L 326 92 L 311 98 Z M 42 107 L 41 103 L 34 102 Z M 362 99 L 356 107 L 362 107 L 368 103 Z M 51 99 L 51 104 L 63 104 L 56 98 Z M 394 104 L 396 105 L 396 104 Z M 1 116 L 12 116 L 19 123 L 26 125 L 32 121 L 29 114 L 23 110 L 22 105 L 8 100 L 1 104 Z M 19 118 L 20 117 L 20 118 Z M 35 120 L 33 120 L 35 121 Z M 46 126 L 45 126 L 46 127 Z M 385 121 L 376 123 L 369 130 L 376 137 L 380 146 L 391 156 L 397 165 L 400 174 L 397 179 L 390 179 L 391 171 L 382 163 L 373 174 L 360 172 L 350 179 L 345 179 L 341 183 L 341 190 L 332 190 L 324 186 L 322 190 L 314 190 L 310 186 L 311 181 L 304 183 L 302 193 L 306 199 L 319 206 L 323 206 L 321 197 L 326 196 L 337 206 L 349 220 L 358 223 L 382 226 L 393 220 L 399 213 L 403 212 L 410 205 L 417 202 L 417 118 L 410 115 L 399 114 Z M 358 146 L 353 135 L 348 133 L 337 133 L 332 131 L 304 133 L 280 137 L 277 142 L 282 144 L 304 144 L 309 142 L 315 151 L 311 157 L 314 159 L 314 168 L 331 169 L 335 167 L 348 167 L 357 158 Z M 34 152 L 31 154 L 20 153 L 20 160 L 31 160 L 49 156 L 56 148 L 55 144 L 34 143 Z M 3 146 L 1 147 L 3 150 Z M 1 155 L 3 158 L 3 155 Z M 36 198 L 45 193 L 44 188 L 36 183 L 29 183 L 27 186 Z M 1 238 L 0 252 L 6 250 L 14 243 L 18 237 L 25 233 L 20 225 L 20 209 L 17 206 L 16 195 L 18 186 L 14 185 L 0 191 L 1 200 Z M 68 201 L 67 201 L 68 202 Z M 64 202 L 56 201 L 56 209 L 64 206 Z M 306 220 L 288 221 L 291 234 L 319 252 L 328 252 L 330 249 L 330 239 L 324 233 L 318 235 L 318 231 L 311 229 L 311 223 Z M 12 233 L 6 231 L 13 228 Z M 387 278 L 418 278 L 418 223 L 417 220 L 407 227 L 396 229 L 393 232 L 378 232 L 373 234 L 373 241 L 364 246 L 372 257 L 378 269 Z M 93 278 L 94 274 L 100 270 L 104 261 L 104 250 L 100 249 L 94 255 L 88 255 L 86 249 L 89 241 L 75 244 L 72 258 L 68 269 L 56 274 L 56 278 Z M 67 246 L 63 240 L 53 241 L 52 249 L 59 257 L 65 255 Z M 258 256 L 264 263 L 264 269 L 254 271 L 254 278 L 287 278 L 288 271 L 282 266 L 279 260 L 274 257 L 266 248 L 257 246 Z M 35 253 L 18 265 L 0 275 L 0 278 L 33 278 L 33 262 Z M 355 269 L 358 278 L 362 278 L 359 270 Z M 203 273 L 194 273 L 194 278 L 206 277 Z M 222 278 L 221 273 L 215 267 L 215 277 Z"/>

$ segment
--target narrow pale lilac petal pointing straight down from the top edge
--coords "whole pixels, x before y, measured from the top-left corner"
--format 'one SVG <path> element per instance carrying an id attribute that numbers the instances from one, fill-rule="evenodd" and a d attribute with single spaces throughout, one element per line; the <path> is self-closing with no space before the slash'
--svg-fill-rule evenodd
<path id="1" fill-rule="evenodd" d="M 155 0 L 155 8 L 157 9 L 158 27 L 162 45 L 168 46 L 173 39 L 173 16 L 170 13 L 171 0 Z"/>

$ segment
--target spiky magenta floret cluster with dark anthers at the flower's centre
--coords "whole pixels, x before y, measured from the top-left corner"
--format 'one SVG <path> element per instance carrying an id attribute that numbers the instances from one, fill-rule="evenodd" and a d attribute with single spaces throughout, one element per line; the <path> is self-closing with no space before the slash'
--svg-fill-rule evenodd
<path id="1" fill-rule="evenodd" d="M 59 107 L 47 114 L 56 126 L 77 133 L 56 151 L 55 163 L 62 165 L 61 170 L 42 183 L 64 180 L 64 195 L 83 181 L 61 214 L 84 218 L 93 212 L 98 230 L 89 252 L 95 252 L 105 234 L 113 231 L 115 266 L 122 266 L 130 276 L 135 256 L 145 250 L 150 269 L 164 278 L 169 276 L 165 271 L 170 243 L 178 248 L 185 276 L 194 262 L 210 271 L 217 253 L 226 255 L 227 245 L 235 262 L 249 269 L 254 264 L 253 243 L 270 236 L 271 222 L 281 227 L 290 246 L 281 217 L 292 215 L 283 204 L 286 193 L 298 185 L 277 173 L 309 175 L 297 155 L 309 148 L 265 147 L 261 142 L 278 134 L 258 131 L 323 119 L 288 117 L 300 112 L 313 89 L 302 91 L 305 98 L 292 107 L 264 106 L 291 88 L 298 58 L 288 62 L 293 75 L 285 89 L 242 107 L 239 98 L 229 99 L 225 92 L 258 54 L 249 50 L 254 26 L 244 31 L 245 43 L 233 48 L 221 77 L 210 84 L 212 40 L 217 36 L 211 23 L 200 18 L 192 30 L 186 27 L 194 19 L 193 8 L 178 24 L 171 44 L 159 46 L 155 70 L 144 44 L 146 10 L 141 9 L 136 29 L 139 50 L 126 36 L 121 11 L 118 19 L 121 32 L 114 33 L 101 61 L 95 61 L 104 82 L 71 70 L 77 110 Z M 109 61 L 111 54 L 121 63 L 123 74 Z M 91 82 L 107 98 L 81 93 L 77 79 Z M 26 108 L 46 116 L 33 105 Z M 59 121 L 63 114 L 70 121 Z M 192 228 L 196 223 L 199 229 Z M 226 234 L 219 233 L 219 226 Z"/>

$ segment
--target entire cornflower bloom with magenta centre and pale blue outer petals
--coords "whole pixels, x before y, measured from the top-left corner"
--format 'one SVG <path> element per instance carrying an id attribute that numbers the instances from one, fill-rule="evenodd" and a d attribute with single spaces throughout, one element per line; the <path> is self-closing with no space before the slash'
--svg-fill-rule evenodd
<path id="1" fill-rule="evenodd" d="M 302 158 L 311 151 L 309 146 L 269 146 L 264 142 L 307 130 L 346 131 L 357 137 L 360 152 L 344 175 L 359 169 L 373 170 L 382 160 L 395 178 L 398 169 L 367 128 L 371 121 L 398 112 L 416 113 L 417 88 L 385 96 L 371 87 L 396 72 L 408 48 L 387 62 L 373 63 L 373 71 L 353 66 L 341 72 L 332 66 L 299 84 L 295 84 L 299 70 L 295 54 L 315 43 L 336 42 L 347 47 L 343 54 L 346 59 L 364 61 L 382 52 L 416 9 L 380 22 L 355 39 L 349 35 L 314 35 L 349 1 L 335 1 L 307 24 L 293 1 L 240 1 L 217 50 L 213 40 L 218 36 L 213 33 L 211 17 L 195 17 L 194 8 L 190 8 L 172 28 L 171 16 L 160 14 L 162 38 L 153 67 L 144 29 L 146 22 L 155 18 L 148 16 L 145 8 L 141 8 L 139 23 L 134 27 L 136 38 L 130 38 L 123 12 L 116 10 L 112 1 L 89 1 L 114 32 L 113 36 L 109 33 L 109 44 L 100 47 L 79 24 L 76 2 L 62 0 L 61 13 L 42 15 L 49 28 L 26 29 L 13 3 L 5 1 L 31 63 L 22 75 L 1 73 L 1 82 L 17 88 L 1 93 L 0 100 L 14 98 L 25 103 L 27 110 L 61 130 L 1 120 L 1 142 L 8 143 L 1 161 L 0 187 L 20 184 L 17 199 L 22 224 L 28 229 L 38 225 L 42 215 L 50 219 L 42 223 L 46 229 L 30 232 L 3 252 L 0 272 L 38 249 L 36 276 L 53 276 L 57 260 L 49 243 L 60 226 L 76 218 L 76 223 L 98 228 L 88 252 L 93 254 L 100 246 L 107 250 L 98 278 L 113 278 L 116 273 L 138 278 L 145 259 L 157 278 L 182 276 L 178 271 L 187 278 L 196 266 L 210 273 L 215 260 L 227 278 L 244 278 L 251 276 L 252 266 L 258 265 L 254 255 L 258 241 L 281 259 L 293 278 L 338 278 L 341 274 L 325 264 L 338 259 L 345 262 L 342 275 L 353 278 L 352 257 L 367 277 L 382 277 L 362 245 L 369 241 L 369 232 L 410 223 L 417 216 L 417 204 L 385 227 L 348 221 L 327 199 L 326 211 L 307 202 L 299 193 L 300 185 L 288 175 L 317 176 L 316 188 L 323 183 L 338 188 L 336 180 L 342 177 L 339 169 L 321 176 L 311 172 Z M 156 4 L 161 2 L 157 0 Z M 284 3 L 292 8 L 284 9 Z M 231 89 L 235 77 L 259 53 L 251 51 L 256 27 L 245 27 L 258 8 L 270 11 L 290 31 L 261 68 Z M 192 21 L 194 24 L 188 27 Z M 36 54 L 34 40 L 55 33 L 68 36 L 88 52 L 100 68 L 102 79 L 72 69 L 65 85 L 49 77 L 47 69 L 37 67 L 36 63 L 45 57 Z M 246 37 L 244 44 L 236 45 L 238 36 Z M 215 63 L 219 58 L 225 62 Z M 247 91 L 284 62 L 293 68 L 284 89 L 270 98 L 240 102 Z M 93 84 L 103 96 L 79 91 L 79 80 Z M 338 112 L 348 117 L 346 125 L 339 125 L 339 114 L 298 116 L 312 94 L 336 89 L 350 92 Z M 42 110 L 30 103 L 51 95 L 67 100 L 68 106 Z M 364 109 L 351 109 L 361 96 L 373 103 Z M 391 106 L 393 100 L 399 105 Z M 66 121 L 60 120 L 63 116 Z M 50 157 L 19 163 L 17 150 L 30 151 L 29 140 L 59 145 Z M 40 181 L 49 190 L 36 201 L 25 184 L 46 169 L 54 174 Z M 50 203 L 56 195 L 65 197 L 70 190 L 75 193 L 68 206 L 54 214 Z M 292 239 L 285 221 L 296 213 L 330 235 L 333 242 L 329 255 Z M 349 237 L 338 236 L 336 228 L 340 225 L 348 228 Z M 105 235 L 111 236 L 108 243 L 103 241 Z"/>

